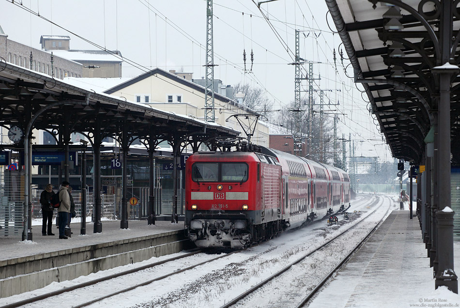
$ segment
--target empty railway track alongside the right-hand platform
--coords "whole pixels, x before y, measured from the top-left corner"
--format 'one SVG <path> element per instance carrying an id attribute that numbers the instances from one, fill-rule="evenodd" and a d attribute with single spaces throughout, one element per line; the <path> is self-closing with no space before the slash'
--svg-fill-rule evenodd
<path id="1" fill-rule="evenodd" d="M 385 197 L 387 198 L 387 197 Z M 374 204 L 375 205 L 375 202 L 378 202 L 378 200 L 374 201 Z M 383 202 L 382 202 L 383 203 Z M 371 205 L 372 206 L 372 205 Z M 386 217 L 386 215 L 388 214 L 388 211 L 389 211 L 390 207 L 388 207 L 386 213 L 383 215 L 383 218 L 376 224 L 376 226 L 374 228 L 372 228 L 371 231 L 369 231 L 366 236 L 352 249 L 352 251 L 350 253 L 348 253 L 344 258 L 342 258 L 340 260 L 340 262 L 338 262 L 337 266 L 335 266 L 321 281 L 320 283 L 316 284 L 316 286 L 313 287 L 313 289 L 308 293 L 307 296 L 305 296 L 299 303 L 296 304 L 296 308 L 300 308 L 300 307 L 303 307 L 311 298 L 313 298 L 315 296 L 316 293 L 318 293 L 318 291 L 321 289 L 321 287 L 334 275 L 334 273 L 336 273 L 336 271 L 345 263 L 347 262 L 350 257 L 354 254 L 354 252 L 356 252 L 356 250 L 359 249 L 359 247 L 361 247 L 364 242 L 366 242 L 366 240 L 369 238 L 370 235 L 372 235 L 372 233 L 378 228 L 378 226 L 380 226 L 383 222 L 383 219 Z M 238 307 L 238 302 L 241 301 L 242 299 L 244 299 L 246 296 L 256 292 L 257 290 L 260 290 L 264 285 L 266 285 L 267 283 L 269 283 L 270 281 L 273 281 L 274 279 L 276 278 L 279 278 L 280 280 L 283 280 L 281 279 L 281 276 L 286 273 L 287 271 L 289 271 L 292 266 L 294 266 L 295 264 L 299 264 L 300 262 L 304 261 L 307 259 L 307 257 L 309 256 L 312 256 L 314 255 L 316 252 L 324 249 L 325 247 L 331 245 L 334 241 L 337 240 L 337 238 L 343 236 L 344 234 L 347 234 L 349 231 L 352 231 L 354 228 L 358 227 L 361 225 L 361 223 L 363 221 L 365 221 L 368 217 L 370 217 L 375 211 L 377 210 L 374 209 L 368 216 L 364 217 L 363 219 L 361 219 L 359 222 L 357 222 L 355 225 L 353 225 L 352 227 L 350 227 L 349 229 L 347 229 L 346 231 L 334 236 L 332 239 L 328 240 L 327 242 L 323 243 L 321 246 L 318 246 L 316 247 L 314 250 L 308 252 L 307 254 L 305 254 L 304 256 L 298 258 L 297 260 L 295 260 L 294 262 L 291 262 L 289 265 L 285 266 L 284 268 L 280 269 L 279 271 L 277 271 L 275 274 L 273 274 L 272 276 L 264 279 L 263 281 L 261 281 L 260 283 L 256 284 L 255 286 L 253 286 L 252 288 L 250 288 L 249 290 L 245 291 L 244 293 L 241 293 L 240 295 L 234 297 L 232 300 L 230 300 L 229 302 L 227 302 L 225 305 L 221 306 L 220 308 L 229 308 L 233 305 L 235 305 L 235 307 Z M 284 281 L 284 280 L 283 280 Z M 277 287 L 279 287 L 279 285 L 277 285 Z M 283 303 L 282 307 L 287 307 L 286 305 L 284 305 L 285 303 Z M 290 305 L 292 305 L 292 302 L 290 303 Z M 245 307 L 245 305 L 243 305 L 242 307 Z M 279 303 L 276 303 L 275 306 L 273 307 L 280 307 L 280 304 Z"/>

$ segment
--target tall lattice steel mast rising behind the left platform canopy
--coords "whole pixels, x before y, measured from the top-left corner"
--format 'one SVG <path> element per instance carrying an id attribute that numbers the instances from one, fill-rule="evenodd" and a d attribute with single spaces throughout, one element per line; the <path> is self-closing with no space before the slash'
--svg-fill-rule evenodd
<path id="1" fill-rule="evenodd" d="M 213 47 L 213 0 L 206 7 L 206 89 L 204 91 L 204 120 L 215 122 L 214 111 L 214 47 Z"/>

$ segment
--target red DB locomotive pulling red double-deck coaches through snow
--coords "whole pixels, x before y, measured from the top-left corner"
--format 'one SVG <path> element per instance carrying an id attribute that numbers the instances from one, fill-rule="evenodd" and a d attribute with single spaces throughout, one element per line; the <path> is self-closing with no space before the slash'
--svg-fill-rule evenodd
<path id="1" fill-rule="evenodd" d="M 245 247 L 349 204 L 345 171 L 251 147 L 187 159 L 185 229 L 197 246 Z"/>

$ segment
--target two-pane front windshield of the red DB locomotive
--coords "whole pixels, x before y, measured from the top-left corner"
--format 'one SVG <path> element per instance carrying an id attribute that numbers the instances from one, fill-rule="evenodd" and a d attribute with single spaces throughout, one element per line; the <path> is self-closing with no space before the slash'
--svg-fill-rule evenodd
<path id="1" fill-rule="evenodd" d="M 195 163 L 192 165 L 194 182 L 245 182 L 248 167 L 245 163 Z"/>

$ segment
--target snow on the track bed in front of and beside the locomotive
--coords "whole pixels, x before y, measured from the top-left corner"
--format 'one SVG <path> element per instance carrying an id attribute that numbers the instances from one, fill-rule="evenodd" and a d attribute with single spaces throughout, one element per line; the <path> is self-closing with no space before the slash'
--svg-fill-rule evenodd
<path id="1" fill-rule="evenodd" d="M 355 203 L 358 206 L 367 201 L 366 199 L 362 199 Z M 359 216 L 365 216 L 365 214 L 360 214 Z M 318 228 L 320 230 L 315 230 Z M 123 293 L 101 303 L 93 304 L 92 307 L 128 307 L 136 303 L 139 303 L 137 307 L 202 307 L 203 304 L 208 307 L 220 307 L 225 300 L 245 291 L 248 286 L 256 284 L 272 275 L 276 269 L 293 262 L 298 259 L 299 255 L 305 254 L 305 251 L 321 245 L 325 241 L 325 238 L 330 238 L 337 233 L 339 233 L 337 228 L 327 227 L 325 222 L 319 222 L 301 230 L 287 231 L 260 246 L 233 254 L 215 262 L 207 263 L 204 266 L 199 266 L 167 279 L 153 282 L 135 291 Z M 155 266 L 154 268 L 127 277 L 111 280 L 101 285 L 85 288 L 85 290 L 66 294 L 63 297 L 47 300 L 46 305 L 59 306 L 62 302 L 71 302 L 75 305 L 100 296 L 102 293 L 111 293 L 115 290 L 134 285 L 139 281 L 149 280 L 153 277 L 159 277 L 184 268 L 197 263 L 198 260 L 209 260 L 214 257 L 215 255 L 213 254 L 201 253 L 181 261 Z M 158 260 L 160 259 L 151 259 L 153 262 Z M 18 296 L 30 297 L 32 294 L 49 292 L 53 288 L 73 285 L 77 281 L 81 282 L 93 279 L 97 277 L 96 275 L 108 275 L 113 273 L 113 271 L 118 272 L 126 268 L 124 266 L 109 271 L 98 272 L 88 277 L 79 277 L 73 281 L 53 284 L 42 290 Z M 13 297 L 8 299 L 13 300 Z M 0 303 L 2 301 L 3 299 Z M 42 305 L 43 303 L 37 303 L 26 307 L 42 307 Z"/>

